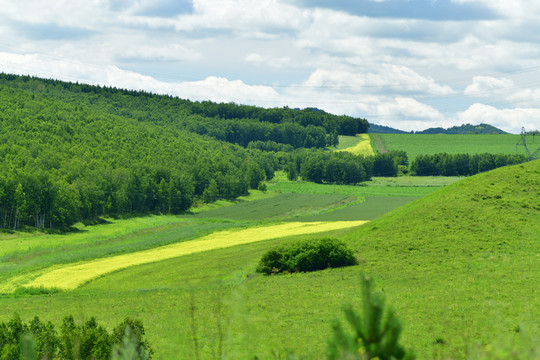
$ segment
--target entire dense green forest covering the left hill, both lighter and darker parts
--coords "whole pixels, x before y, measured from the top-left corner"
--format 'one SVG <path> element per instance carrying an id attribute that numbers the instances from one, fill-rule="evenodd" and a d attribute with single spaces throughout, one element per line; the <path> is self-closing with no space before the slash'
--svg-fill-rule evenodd
<path id="1" fill-rule="evenodd" d="M 356 169 L 324 181 L 364 181 L 373 160 L 305 148 L 367 127 L 366 120 L 314 109 L 197 103 L 2 74 L 0 228 L 181 213 L 194 201 L 246 195 L 289 163 L 303 179 L 322 181 L 309 175 L 309 164 L 300 166 L 310 152 L 310 159 Z"/>

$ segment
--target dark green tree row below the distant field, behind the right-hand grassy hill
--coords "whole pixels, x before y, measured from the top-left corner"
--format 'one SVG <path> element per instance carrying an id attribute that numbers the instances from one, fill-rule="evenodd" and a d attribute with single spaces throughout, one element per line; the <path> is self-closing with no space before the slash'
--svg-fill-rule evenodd
<path id="1" fill-rule="evenodd" d="M 525 161 L 527 157 L 521 154 L 419 155 L 411 164 L 411 173 L 418 176 L 469 176 Z"/>

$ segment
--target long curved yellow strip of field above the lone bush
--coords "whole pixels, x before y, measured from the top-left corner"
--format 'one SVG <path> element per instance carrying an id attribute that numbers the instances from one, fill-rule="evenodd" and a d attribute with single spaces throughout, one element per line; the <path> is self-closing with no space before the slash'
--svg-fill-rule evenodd
<path id="1" fill-rule="evenodd" d="M 99 276 L 116 270 L 125 269 L 130 266 L 171 259 L 196 252 L 248 244 L 256 241 L 346 229 L 362 225 L 366 222 L 367 221 L 289 222 L 237 231 L 219 231 L 192 241 L 162 246 L 131 254 L 53 267 L 42 271 L 40 274 L 37 274 L 37 276 L 36 274 L 34 274 L 34 276 L 26 275 L 27 281 L 23 282 L 22 286 L 27 288 L 44 287 L 71 290 Z M 32 277 L 33 279 L 30 280 Z M 20 283 L 21 280 L 23 279 L 18 279 L 18 281 L 16 280 L 15 282 Z M 12 288 L 12 286 L 4 286 L 3 288 L 4 290 L 8 290 Z"/>

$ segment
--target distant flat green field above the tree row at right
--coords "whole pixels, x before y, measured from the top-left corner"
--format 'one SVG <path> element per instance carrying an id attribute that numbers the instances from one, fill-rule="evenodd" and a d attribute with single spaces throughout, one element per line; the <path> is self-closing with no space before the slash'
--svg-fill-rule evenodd
<path id="1" fill-rule="evenodd" d="M 526 154 L 520 135 L 377 134 L 386 150 L 405 150 L 412 162 L 425 154 Z M 517 150 L 517 151 L 516 151 Z"/>

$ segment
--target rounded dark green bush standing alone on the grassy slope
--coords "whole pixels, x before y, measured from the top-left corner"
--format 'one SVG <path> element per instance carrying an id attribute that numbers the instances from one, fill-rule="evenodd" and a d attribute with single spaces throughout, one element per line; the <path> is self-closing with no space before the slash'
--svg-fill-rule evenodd
<path id="1" fill-rule="evenodd" d="M 352 250 L 336 239 L 300 241 L 270 250 L 263 255 L 257 272 L 270 275 L 307 272 L 356 265 Z"/>

